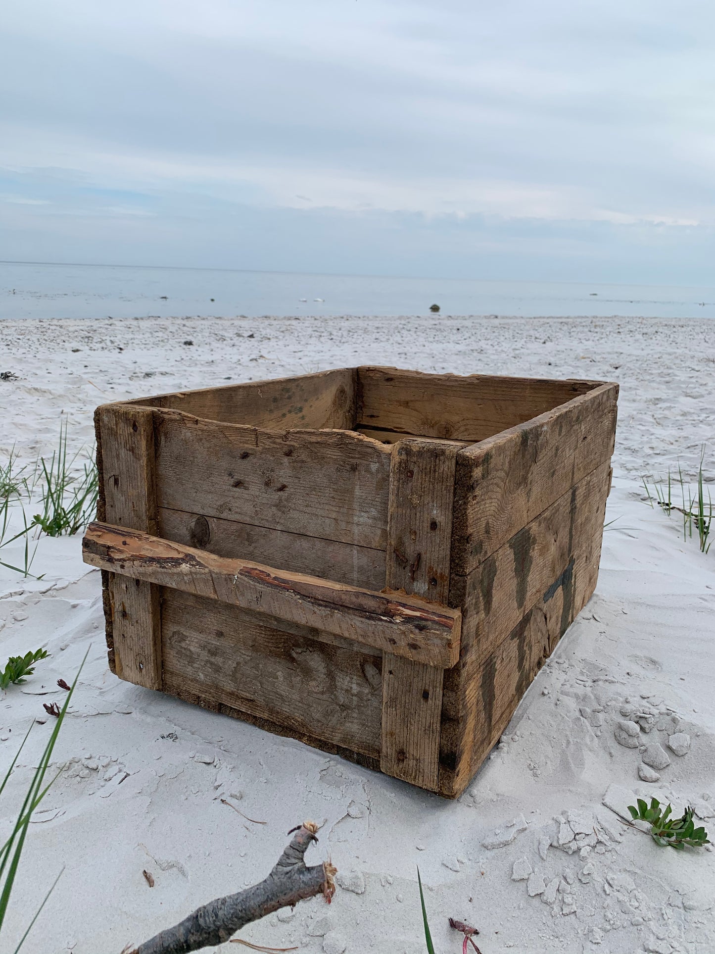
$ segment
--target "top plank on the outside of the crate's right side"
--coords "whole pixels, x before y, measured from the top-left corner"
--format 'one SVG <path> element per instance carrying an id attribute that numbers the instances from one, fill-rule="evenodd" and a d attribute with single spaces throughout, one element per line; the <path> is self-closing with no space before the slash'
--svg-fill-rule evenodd
<path id="1" fill-rule="evenodd" d="M 603 384 L 458 455 L 452 570 L 468 573 L 613 453 L 618 384 Z"/>

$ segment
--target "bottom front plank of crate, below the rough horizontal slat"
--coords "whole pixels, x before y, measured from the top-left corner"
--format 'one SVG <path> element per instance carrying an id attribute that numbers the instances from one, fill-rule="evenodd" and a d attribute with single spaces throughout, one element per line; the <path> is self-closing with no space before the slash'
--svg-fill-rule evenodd
<path id="1" fill-rule="evenodd" d="M 269 719 L 298 738 L 309 735 L 378 757 L 379 655 L 286 633 L 258 619 L 258 613 L 163 590 L 167 690 Z"/>

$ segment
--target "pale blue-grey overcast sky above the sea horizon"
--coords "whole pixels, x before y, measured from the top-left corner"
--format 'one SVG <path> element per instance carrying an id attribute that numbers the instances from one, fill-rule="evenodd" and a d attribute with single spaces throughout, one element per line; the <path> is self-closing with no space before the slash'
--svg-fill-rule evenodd
<path id="1" fill-rule="evenodd" d="M 0 258 L 713 283 L 705 0 L 5 0 Z"/>

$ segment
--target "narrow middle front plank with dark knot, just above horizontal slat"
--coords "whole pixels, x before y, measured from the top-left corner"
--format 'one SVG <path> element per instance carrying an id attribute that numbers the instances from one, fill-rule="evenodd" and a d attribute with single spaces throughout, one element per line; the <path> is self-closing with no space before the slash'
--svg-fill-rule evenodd
<path id="1" fill-rule="evenodd" d="M 157 525 L 157 536 L 216 556 L 241 556 L 278 570 L 309 573 L 367 590 L 381 590 L 385 585 L 384 550 L 165 507 L 158 508 Z"/>

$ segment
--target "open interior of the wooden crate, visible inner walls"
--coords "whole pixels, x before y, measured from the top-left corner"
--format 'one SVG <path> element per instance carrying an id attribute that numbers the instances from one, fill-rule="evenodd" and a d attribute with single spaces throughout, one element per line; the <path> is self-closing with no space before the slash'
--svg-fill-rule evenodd
<path id="1" fill-rule="evenodd" d="M 474 444 L 597 384 L 364 366 L 164 394 L 133 404 L 269 430 L 355 430 L 386 444 L 404 436 Z"/>

